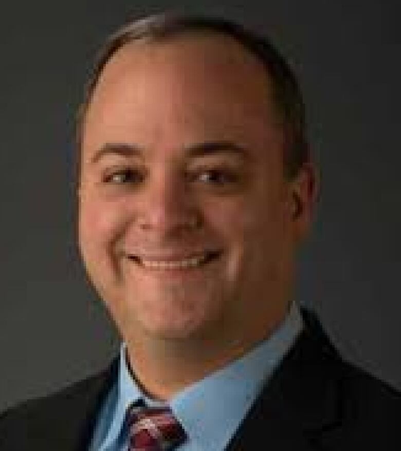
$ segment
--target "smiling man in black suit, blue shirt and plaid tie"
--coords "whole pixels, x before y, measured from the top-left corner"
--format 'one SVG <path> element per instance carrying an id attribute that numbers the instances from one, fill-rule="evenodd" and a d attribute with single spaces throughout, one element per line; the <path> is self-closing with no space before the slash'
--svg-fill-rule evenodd
<path id="1" fill-rule="evenodd" d="M 0 449 L 399 449 L 399 394 L 291 301 L 317 184 L 266 40 L 205 18 L 124 27 L 78 137 L 79 246 L 121 353 L 6 412 Z"/>

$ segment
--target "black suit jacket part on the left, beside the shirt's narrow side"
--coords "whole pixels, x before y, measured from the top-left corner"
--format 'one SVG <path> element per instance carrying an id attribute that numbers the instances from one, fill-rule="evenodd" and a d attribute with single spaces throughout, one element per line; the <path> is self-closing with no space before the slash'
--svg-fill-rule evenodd
<path id="1" fill-rule="evenodd" d="M 102 373 L 6 410 L 0 415 L 0 449 L 84 449 L 116 367 L 113 361 Z"/>

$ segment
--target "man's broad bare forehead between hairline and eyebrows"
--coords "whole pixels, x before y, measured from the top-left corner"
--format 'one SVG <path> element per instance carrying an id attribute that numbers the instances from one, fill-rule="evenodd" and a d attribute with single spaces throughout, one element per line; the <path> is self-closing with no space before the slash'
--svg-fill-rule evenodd
<path id="1" fill-rule="evenodd" d="M 139 141 L 174 133 L 183 140 L 205 133 L 218 135 L 209 139 L 258 134 L 274 123 L 270 99 L 263 63 L 230 37 L 140 40 L 125 44 L 105 64 L 85 129 L 89 135 L 94 127 L 131 132 Z"/>

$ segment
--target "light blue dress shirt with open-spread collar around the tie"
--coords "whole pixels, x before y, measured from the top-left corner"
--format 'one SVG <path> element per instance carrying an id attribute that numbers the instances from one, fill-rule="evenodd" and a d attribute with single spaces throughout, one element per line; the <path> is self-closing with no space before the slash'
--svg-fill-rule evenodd
<path id="1" fill-rule="evenodd" d="M 293 303 L 269 338 L 177 393 L 169 406 L 187 433 L 187 440 L 177 451 L 223 451 L 301 329 L 300 310 Z M 130 374 L 125 350 L 122 343 L 118 379 L 100 411 L 90 451 L 128 449 L 129 432 L 124 420 L 132 403 L 142 399 L 148 406 L 165 405 L 141 391 Z"/>

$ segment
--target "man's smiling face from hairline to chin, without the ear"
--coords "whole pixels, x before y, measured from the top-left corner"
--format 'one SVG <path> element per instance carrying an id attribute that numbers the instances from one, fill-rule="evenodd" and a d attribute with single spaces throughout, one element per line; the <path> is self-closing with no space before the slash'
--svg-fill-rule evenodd
<path id="1" fill-rule="evenodd" d="M 120 331 L 247 334 L 283 311 L 297 221 L 262 64 L 229 38 L 125 45 L 82 142 L 79 240 Z"/>

